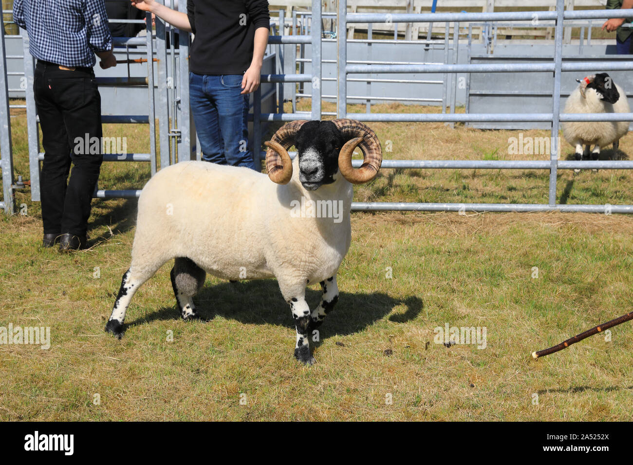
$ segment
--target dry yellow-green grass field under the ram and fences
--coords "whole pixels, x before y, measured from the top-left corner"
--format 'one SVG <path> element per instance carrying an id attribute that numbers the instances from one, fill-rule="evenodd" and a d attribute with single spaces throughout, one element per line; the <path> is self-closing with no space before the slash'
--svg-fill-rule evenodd
<path id="1" fill-rule="evenodd" d="M 11 122 L 16 174 L 26 179 L 25 118 Z M 391 141 L 385 158 L 548 159 L 508 154 L 518 132 L 372 127 L 384 146 Z M 104 135 L 125 135 L 128 151 L 148 151 L 146 127 L 106 125 Z M 633 139 L 620 149 L 603 156 L 628 158 Z M 142 187 L 148 176 L 146 164 L 104 163 L 99 185 Z M 558 185 L 561 203 L 633 203 L 626 171 L 562 171 Z M 547 190 L 541 171 L 383 170 L 354 195 L 537 203 Z M 0 326 L 49 326 L 51 347 L 0 345 L 1 420 L 633 419 L 630 323 L 613 328 L 610 341 L 601 334 L 530 357 L 630 311 L 630 216 L 353 213 L 339 304 L 313 344 L 315 366 L 306 368 L 292 357 L 291 313 L 274 280 L 210 278 L 194 299 L 209 321 L 185 323 L 168 264 L 135 296 L 123 339 L 106 335 L 130 259 L 136 201 L 94 201 L 91 249 L 66 255 L 40 247 L 39 204 L 28 191 L 17 197 L 27 216 L 0 220 Z M 309 290 L 311 306 L 319 296 Z M 434 328 L 447 323 L 485 327 L 486 348 L 436 344 Z"/>

